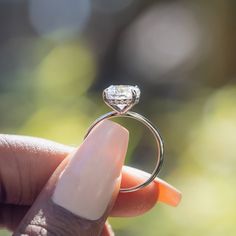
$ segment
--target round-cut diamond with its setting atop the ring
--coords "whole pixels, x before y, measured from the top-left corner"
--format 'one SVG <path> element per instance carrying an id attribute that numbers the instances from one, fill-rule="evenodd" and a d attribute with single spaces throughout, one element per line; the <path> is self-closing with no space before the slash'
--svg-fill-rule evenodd
<path id="1" fill-rule="evenodd" d="M 105 103 L 119 113 L 125 113 L 139 102 L 140 89 L 131 85 L 111 85 L 103 91 Z"/>

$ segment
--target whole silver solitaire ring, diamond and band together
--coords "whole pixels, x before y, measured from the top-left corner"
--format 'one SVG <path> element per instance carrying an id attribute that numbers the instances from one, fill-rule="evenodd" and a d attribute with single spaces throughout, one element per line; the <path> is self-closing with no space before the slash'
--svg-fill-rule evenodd
<path id="1" fill-rule="evenodd" d="M 107 93 L 106 93 L 107 91 Z M 109 94 L 110 92 L 110 94 Z M 110 97 L 109 97 L 110 96 Z M 98 125 L 101 121 L 106 119 L 111 119 L 115 117 L 127 117 L 132 118 L 137 121 L 143 123 L 153 134 L 156 144 L 157 144 L 157 163 L 155 166 L 154 171 L 150 175 L 150 177 L 142 184 L 129 187 L 129 188 L 121 188 L 120 192 L 127 193 L 127 192 L 135 192 L 141 188 L 144 188 L 148 184 L 150 184 L 158 175 L 161 170 L 163 164 L 163 157 L 164 157 L 164 148 L 163 142 L 161 139 L 160 134 L 158 133 L 157 129 L 154 125 L 144 116 L 136 113 L 131 112 L 129 109 L 133 107 L 135 104 L 138 103 L 140 97 L 140 90 L 137 86 L 129 86 L 129 85 L 112 85 L 104 90 L 103 92 L 103 99 L 107 105 L 112 107 L 114 111 L 106 113 L 95 120 L 92 125 L 89 127 L 85 138 L 89 135 L 91 130 Z M 115 106 L 116 105 L 116 106 Z M 120 106 L 119 106 L 120 105 Z M 122 106 L 121 106 L 122 105 Z"/>

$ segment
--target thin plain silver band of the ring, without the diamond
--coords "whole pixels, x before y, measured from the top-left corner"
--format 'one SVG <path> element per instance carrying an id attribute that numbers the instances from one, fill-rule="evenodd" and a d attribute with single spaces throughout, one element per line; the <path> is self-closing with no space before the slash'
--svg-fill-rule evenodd
<path id="1" fill-rule="evenodd" d="M 130 188 L 121 188 L 120 192 L 122 193 L 127 193 L 127 192 L 135 192 L 141 188 L 144 188 L 145 186 L 147 186 L 148 184 L 150 184 L 158 175 L 158 173 L 161 170 L 162 164 L 163 164 L 163 154 L 164 154 L 164 148 L 163 148 L 163 142 L 161 139 L 160 134 L 158 133 L 157 129 L 154 127 L 154 125 L 144 116 L 136 113 L 136 112 L 131 112 L 128 111 L 126 113 L 118 113 L 116 111 L 112 111 L 112 112 L 108 112 L 106 114 L 104 114 L 103 116 L 99 117 L 97 120 L 94 121 L 94 123 L 89 127 L 86 135 L 84 138 L 86 138 L 90 131 L 101 121 L 106 120 L 106 119 L 111 119 L 114 117 L 128 117 L 128 118 L 132 118 L 135 119 L 137 121 L 140 121 L 141 123 L 143 123 L 153 134 L 155 141 L 157 143 L 157 163 L 155 166 L 154 171 L 152 172 L 151 176 L 142 184 L 134 186 L 134 187 L 130 187 Z"/>

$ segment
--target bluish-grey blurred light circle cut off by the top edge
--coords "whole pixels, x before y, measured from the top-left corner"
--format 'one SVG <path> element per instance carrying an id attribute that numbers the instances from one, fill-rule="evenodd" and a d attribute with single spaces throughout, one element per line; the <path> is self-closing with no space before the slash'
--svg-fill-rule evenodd
<path id="1" fill-rule="evenodd" d="M 90 7 L 87 0 L 30 0 L 30 21 L 43 37 L 71 39 L 85 28 Z"/>

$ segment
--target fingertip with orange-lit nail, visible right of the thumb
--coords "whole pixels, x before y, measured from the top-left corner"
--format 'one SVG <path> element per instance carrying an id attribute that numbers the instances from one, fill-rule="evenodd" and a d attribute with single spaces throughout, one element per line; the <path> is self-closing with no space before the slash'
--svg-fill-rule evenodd
<path id="1" fill-rule="evenodd" d="M 122 188 L 137 186 L 150 174 L 125 166 L 122 170 Z M 137 216 L 149 211 L 156 203 L 164 202 L 177 206 L 181 201 L 181 193 L 165 181 L 156 178 L 152 183 L 136 192 L 120 193 L 112 209 L 112 216 Z"/>

